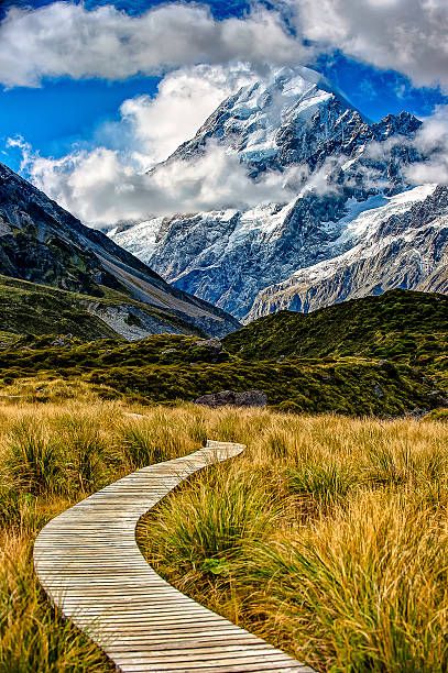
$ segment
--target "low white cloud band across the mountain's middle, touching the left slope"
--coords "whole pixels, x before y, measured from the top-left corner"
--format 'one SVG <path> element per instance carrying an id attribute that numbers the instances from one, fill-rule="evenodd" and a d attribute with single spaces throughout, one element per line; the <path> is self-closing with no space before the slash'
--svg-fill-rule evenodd
<path id="1" fill-rule="evenodd" d="M 214 143 L 196 161 L 172 161 L 145 174 L 105 147 L 48 159 L 34 156 L 23 141 L 10 142 L 21 147 L 32 181 L 91 227 L 285 202 L 294 194 L 293 172 L 267 173 L 253 181 L 237 154 Z"/>

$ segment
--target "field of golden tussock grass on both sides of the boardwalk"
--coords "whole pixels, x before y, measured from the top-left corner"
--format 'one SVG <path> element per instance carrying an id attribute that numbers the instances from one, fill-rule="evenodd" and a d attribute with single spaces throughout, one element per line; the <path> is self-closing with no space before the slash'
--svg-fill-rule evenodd
<path id="1" fill-rule="evenodd" d="M 170 581 L 320 671 L 447 670 L 446 424 L 86 395 L 0 405 L 0 671 L 112 670 L 45 599 L 33 540 L 75 501 L 207 438 L 248 450 L 139 529 Z"/>

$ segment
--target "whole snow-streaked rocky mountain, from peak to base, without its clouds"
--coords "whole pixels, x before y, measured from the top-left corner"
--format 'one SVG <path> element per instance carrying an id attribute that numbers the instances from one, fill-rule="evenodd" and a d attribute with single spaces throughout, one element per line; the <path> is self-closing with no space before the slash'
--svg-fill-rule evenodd
<path id="1" fill-rule="evenodd" d="M 195 161 L 217 143 L 253 180 L 296 170 L 297 196 L 154 218 L 110 235 L 239 319 L 390 287 L 448 291 L 444 190 L 406 184 L 406 166 L 424 158 L 412 142 L 419 126 L 406 112 L 372 123 L 316 73 L 283 68 L 225 100 L 167 163 Z"/>

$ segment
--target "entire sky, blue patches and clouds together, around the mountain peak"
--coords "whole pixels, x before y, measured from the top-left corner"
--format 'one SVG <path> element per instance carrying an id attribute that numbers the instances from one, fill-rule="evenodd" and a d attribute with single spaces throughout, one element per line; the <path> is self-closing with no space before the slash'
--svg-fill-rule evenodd
<path id="1" fill-rule="evenodd" d="M 228 176 L 230 159 L 212 148 L 209 167 L 204 161 L 185 179 L 184 165 L 170 164 L 175 175 L 159 170 L 161 185 L 146 172 L 272 66 L 319 70 L 374 121 L 402 110 L 427 118 L 422 142 L 444 162 L 448 155 L 447 0 L 0 0 L 0 161 L 92 227 L 162 212 L 156 199 L 167 185 L 170 212 L 193 212 L 199 206 L 178 187 L 185 179 L 214 208 L 228 205 L 220 190 L 229 178 L 210 176 L 218 165 Z M 237 199 L 244 188 L 232 189 Z"/>

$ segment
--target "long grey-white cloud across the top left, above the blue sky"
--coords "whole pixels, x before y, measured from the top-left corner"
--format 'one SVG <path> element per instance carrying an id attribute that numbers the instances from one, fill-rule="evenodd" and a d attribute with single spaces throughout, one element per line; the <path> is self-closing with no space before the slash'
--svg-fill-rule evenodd
<path id="1" fill-rule="evenodd" d="M 305 53 L 280 14 L 262 8 L 216 21 L 200 4 L 171 3 L 130 16 L 113 5 L 88 11 L 83 3 L 53 2 L 11 9 L 0 23 L 0 81 L 7 87 L 39 86 L 44 77 L 157 75 L 200 63 L 283 65 Z"/>

